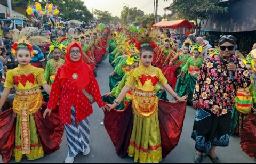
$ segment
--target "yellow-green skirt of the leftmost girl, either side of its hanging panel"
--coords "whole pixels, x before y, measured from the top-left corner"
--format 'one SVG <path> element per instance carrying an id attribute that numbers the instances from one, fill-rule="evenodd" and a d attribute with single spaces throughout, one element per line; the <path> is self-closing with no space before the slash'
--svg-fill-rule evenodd
<path id="1" fill-rule="evenodd" d="M 29 115 L 29 129 L 30 129 L 30 153 L 22 154 L 22 140 L 21 140 L 21 122 L 20 115 L 16 117 L 16 131 L 15 131 L 15 148 L 13 154 L 16 162 L 20 162 L 23 155 L 26 155 L 28 160 L 35 160 L 44 156 L 43 147 L 41 145 L 39 134 L 36 128 L 36 122 L 33 114 Z"/>

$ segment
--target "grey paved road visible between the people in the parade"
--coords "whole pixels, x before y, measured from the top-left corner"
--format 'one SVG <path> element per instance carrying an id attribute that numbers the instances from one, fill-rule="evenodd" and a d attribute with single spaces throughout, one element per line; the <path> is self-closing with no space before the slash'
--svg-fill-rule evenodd
<path id="1" fill-rule="evenodd" d="M 97 80 L 100 85 L 101 94 L 105 94 L 109 92 L 108 86 L 108 76 L 109 73 L 113 71 L 111 65 L 108 60 L 103 61 L 97 71 Z M 169 97 L 169 100 L 171 98 Z M 100 125 L 100 122 L 103 121 L 103 111 L 98 108 L 96 104 L 93 105 L 94 112 L 89 118 L 90 122 L 90 149 L 91 152 L 87 156 L 83 156 L 82 154 L 78 154 L 75 158 L 74 162 L 107 162 L 107 163 L 116 163 L 116 162 L 133 162 L 133 158 L 126 157 L 124 159 L 119 158 L 116 153 L 113 144 L 110 141 L 108 134 L 104 126 Z M 166 157 L 163 159 L 163 163 L 179 163 L 186 162 L 191 163 L 194 162 L 194 140 L 191 139 L 191 132 L 193 128 L 195 110 L 190 106 L 187 106 L 186 117 L 183 124 L 183 130 L 181 133 L 180 141 L 177 147 Z M 247 156 L 239 145 L 239 137 L 231 136 L 230 143 L 228 147 L 218 147 L 217 155 L 221 162 L 226 163 L 255 163 L 256 160 Z M 22 162 L 63 162 L 65 161 L 66 155 L 68 152 L 67 140 L 66 136 L 63 136 L 62 143 L 60 145 L 60 150 L 57 152 L 46 155 L 45 157 L 28 161 L 26 158 L 23 158 Z M 2 159 L 0 159 L 2 162 Z M 14 162 L 14 158 L 11 159 L 10 162 Z M 204 159 L 205 163 L 211 163 L 211 160 L 206 157 Z"/>

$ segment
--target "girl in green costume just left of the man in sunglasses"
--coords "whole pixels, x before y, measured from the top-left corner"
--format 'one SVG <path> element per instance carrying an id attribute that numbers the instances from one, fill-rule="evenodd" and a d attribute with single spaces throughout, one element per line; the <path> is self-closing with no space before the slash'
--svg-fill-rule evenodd
<path id="1" fill-rule="evenodd" d="M 188 95 L 188 104 L 191 104 L 196 79 L 199 75 L 199 69 L 203 62 L 203 59 L 199 56 L 202 51 L 202 47 L 196 44 L 193 46 L 192 51 L 193 56 L 189 57 L 186 64 L 182 67 L 175 87 L 175 92 L 177 92 L 179 96 Z"/>

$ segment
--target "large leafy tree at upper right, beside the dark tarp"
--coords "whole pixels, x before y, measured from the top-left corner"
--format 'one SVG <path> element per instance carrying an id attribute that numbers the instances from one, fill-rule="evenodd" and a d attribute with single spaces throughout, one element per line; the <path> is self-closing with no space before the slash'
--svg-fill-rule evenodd
<path id="1" fill-rule="evenodd" d="M 168 1 L 168 0 L 165 0 Z M 187 20 L 194 20 L 197 27 L 201 27 L 201 22 L 207 19 L 210 13 L 227 13 L 227 7 L 220 6 L 222 0 L 173 0 L 171 6 L 177 10 L 181 16 Z M 198 23 L 199 21 L 199 23 Z M 199 28 L 196 30 L 198 34 Z"/>

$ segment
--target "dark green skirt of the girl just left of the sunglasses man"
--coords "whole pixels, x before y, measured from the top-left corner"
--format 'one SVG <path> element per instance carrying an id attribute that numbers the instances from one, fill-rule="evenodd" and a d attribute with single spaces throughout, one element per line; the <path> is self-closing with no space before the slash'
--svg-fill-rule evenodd
<path id="1" fill-rule="evenodd" d="M 196 78 L 186 73 L 183 81 L 178 78 L 175 86 L 175 92 L 178 93 L 180 97 L 188 95 L 187 104 L 191 104 L 195 86 Z"/>

